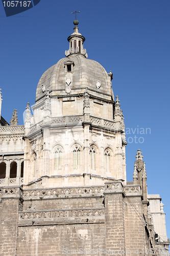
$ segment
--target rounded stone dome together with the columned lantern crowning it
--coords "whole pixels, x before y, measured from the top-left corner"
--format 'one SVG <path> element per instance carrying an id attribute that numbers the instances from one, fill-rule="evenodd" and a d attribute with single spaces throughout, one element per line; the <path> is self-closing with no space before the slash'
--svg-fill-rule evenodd
<path id="1" fill-rule="evenodd" d="M 97 61 L 87 59 L 86 49 L 83 48 L 85 37 L 78 32 L 78 20 L 74 20 L 74 24 L 74 33 L 67 38 L 69 49 L 65 51 L 66 58 L 60 59 L 41 76 L 36 101 L 45 96 L 47 90 L 50 96 L 64 96 L 84 93 L 86 88 L 94 94 L 111 96 L 114 100 L 112 73 L 108 74 Z"/>

